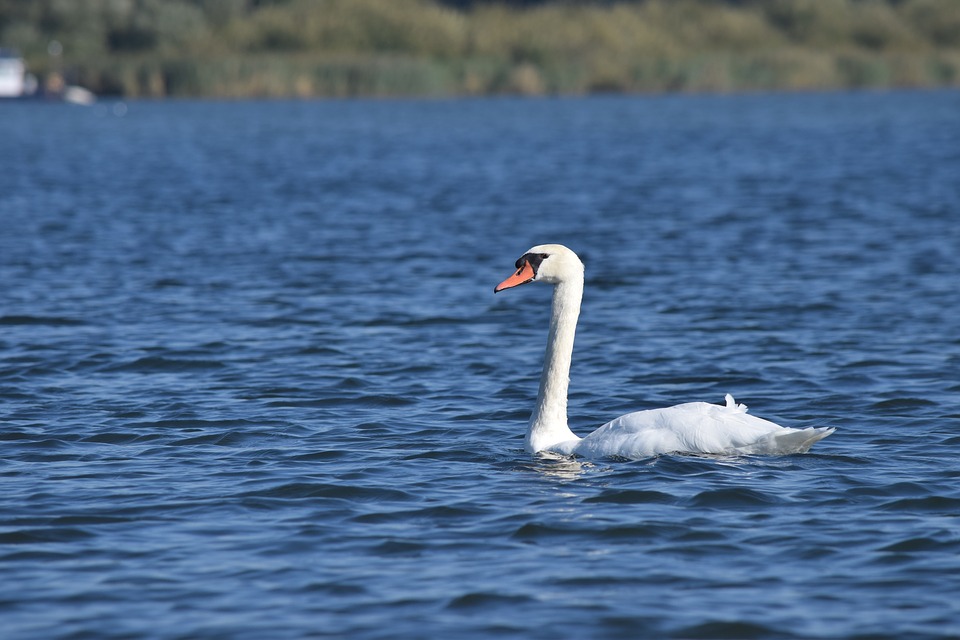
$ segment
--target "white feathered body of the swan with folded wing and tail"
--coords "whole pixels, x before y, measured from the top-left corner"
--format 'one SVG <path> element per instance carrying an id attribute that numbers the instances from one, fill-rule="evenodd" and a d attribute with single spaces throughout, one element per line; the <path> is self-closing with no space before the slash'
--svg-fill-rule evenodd
<path id="1" fill-rule="evenodd" d="M 690 402 L 636 411 L 603 425 L 579 443 L 588 457 L 646 458 L 662 453 L 804 453 L 830 428 L 791 429 L 747 413 L 728 396 L 727 405 Z"/>

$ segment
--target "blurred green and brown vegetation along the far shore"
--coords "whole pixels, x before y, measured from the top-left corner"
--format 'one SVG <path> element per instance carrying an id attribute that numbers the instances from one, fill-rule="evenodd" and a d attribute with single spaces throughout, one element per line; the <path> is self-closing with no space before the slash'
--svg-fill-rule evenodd
<path id="1" fill-rule="evenodd" d="M 941 87 L 960 0 L 0 0 L 0 46 L 126 97 Z"/>

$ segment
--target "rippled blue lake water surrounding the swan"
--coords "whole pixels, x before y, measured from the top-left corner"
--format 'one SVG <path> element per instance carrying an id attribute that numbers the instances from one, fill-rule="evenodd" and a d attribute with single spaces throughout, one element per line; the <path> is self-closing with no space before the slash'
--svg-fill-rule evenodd
<path id="1" fill-rule="evenodd" d="M 0 105 L 4 638 L 960 636 L 960 93 Z M 730 392 L 808 455 L 523 451 Z"/>

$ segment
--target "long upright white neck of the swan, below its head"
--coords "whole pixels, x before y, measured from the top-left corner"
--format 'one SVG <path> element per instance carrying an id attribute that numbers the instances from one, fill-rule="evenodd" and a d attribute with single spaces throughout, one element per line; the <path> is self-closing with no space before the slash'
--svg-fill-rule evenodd
<path id="1" fill-rule="evenodd" d="M 579 440 L 567 426 L 567 388 L 570 386 L 570 361 L 582 298 L 582 276 L 560 282 L 553 292 L 550 335 L 537 406 L 527 428 L 527 451 L 541 451 L 560 442 Z"/>

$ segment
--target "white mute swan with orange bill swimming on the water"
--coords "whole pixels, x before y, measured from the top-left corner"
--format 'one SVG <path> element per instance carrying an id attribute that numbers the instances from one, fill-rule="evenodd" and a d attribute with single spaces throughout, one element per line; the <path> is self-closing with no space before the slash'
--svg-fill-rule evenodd
<path id="1" fill-rule="evenodd" d="M 727 394 L 724 405 L 688 402 L 636 411 L 578 437 L 567 426 L 567 388 L 583 298 L 583 263 L 563 245 L 543 244 L 520 256 L 515 266 L 516 272 L 494 293 L 529 282 L 555 286 L 540 390 L 525 438 L 528 452 L 632 459 L 668 453 L 785 455 L 805 453 L 834 432 L 832 427 L 781 427 L 747 414 L 747 407 Z"/>

